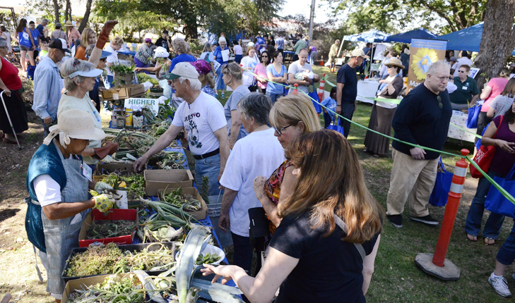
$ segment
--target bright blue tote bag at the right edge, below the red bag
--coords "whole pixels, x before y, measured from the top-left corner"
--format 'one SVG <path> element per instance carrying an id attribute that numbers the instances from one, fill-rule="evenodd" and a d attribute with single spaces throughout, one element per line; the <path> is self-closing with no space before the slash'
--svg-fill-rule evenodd
<path id="1" fill-rule="evenodd" d="M 514 168 L 515 166 L 511 168 L 506 178 L 494 177 L 494 181 L 512 196 L 515 195 Z M 514 218 L 515 205 L 509 202 L 495 186 L 490 186 L 490 190 L 485 199 L 485 209 L 495 214 L 502 214 L 503 216 Z"/>

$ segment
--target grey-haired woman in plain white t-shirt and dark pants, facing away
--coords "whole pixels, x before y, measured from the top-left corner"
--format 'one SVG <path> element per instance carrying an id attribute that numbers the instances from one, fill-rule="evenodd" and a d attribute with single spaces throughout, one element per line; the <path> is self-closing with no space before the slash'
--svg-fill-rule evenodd
<path id="1" fill-rule="evenodd" d="M 239 101 L 237 111 L 249 135 L 236 142 L 220 179 L 225 192 L 218 225 L 224 231 L 230 230 L 234 243 L 233 263 L 247 271 L 251 270 L 254 248 L 257 252 L 263 248 L 250 244 L 248 211 L 261 207 L 253 180 L 259 175 L 271 175 L 285 161 L 284 149 L 274 136 L 275 130 L 268 127 L 271 107 L 270 97 L 259 92 L 247 94 Z"/>

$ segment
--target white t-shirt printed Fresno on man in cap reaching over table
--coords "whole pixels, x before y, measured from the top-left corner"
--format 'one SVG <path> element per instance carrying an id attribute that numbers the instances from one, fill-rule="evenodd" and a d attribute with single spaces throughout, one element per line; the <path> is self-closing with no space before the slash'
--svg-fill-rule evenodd
<path id="1" fill-rule="evenodd" d="M 220 101 L 201 92 L 192 104 L 184 101 L 179 105 L 172 124 L 186 128 L 189 150 L 193 154 L 201 155 L 220 148 L 214 132 L 225 128 L 227 120 Z"/>

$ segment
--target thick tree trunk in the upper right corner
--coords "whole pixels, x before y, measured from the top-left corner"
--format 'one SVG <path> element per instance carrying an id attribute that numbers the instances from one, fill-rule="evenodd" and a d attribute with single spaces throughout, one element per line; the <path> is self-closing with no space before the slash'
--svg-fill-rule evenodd
<path id="1" fill-rule="evenodd" d="M 475 66 L 480 68 L 476 78 L 478 87 L 483 87 L 485 78 L 499 77 L 499 71 L 515 48 L 514 14 L 515 0 L 487 1 L 483 37 L 475 58 Z"/>

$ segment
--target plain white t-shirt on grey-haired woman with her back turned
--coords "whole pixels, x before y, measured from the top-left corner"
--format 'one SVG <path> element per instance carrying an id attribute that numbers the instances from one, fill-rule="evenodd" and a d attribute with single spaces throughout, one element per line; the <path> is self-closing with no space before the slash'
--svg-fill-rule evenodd
<path id="1" fill-rule="evenodd" d="M 235 201 L 229 210 L 232 233 L 249 237 L 249 209 L 261 207 L 254 192 L 254 178 L 269 176 L 285 161 L 284 149 L 273 135 L 273 128 L 251 132 L 233 147 L 220 184 L 235 190 Z"/>

